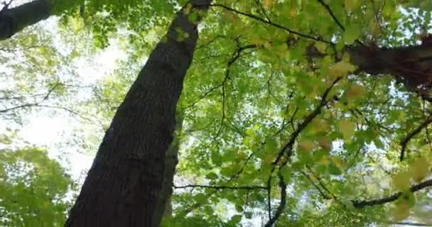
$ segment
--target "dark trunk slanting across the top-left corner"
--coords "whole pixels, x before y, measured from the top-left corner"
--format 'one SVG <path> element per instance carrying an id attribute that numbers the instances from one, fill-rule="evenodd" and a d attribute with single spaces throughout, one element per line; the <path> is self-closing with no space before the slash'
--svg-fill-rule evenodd
<path id="1" fill-rule="evenodd" d="M 0 40 L 11 38 L 26 26 L 31 26 L 51 16 L 48 0 L 31 1 L 0 11 Z"/>

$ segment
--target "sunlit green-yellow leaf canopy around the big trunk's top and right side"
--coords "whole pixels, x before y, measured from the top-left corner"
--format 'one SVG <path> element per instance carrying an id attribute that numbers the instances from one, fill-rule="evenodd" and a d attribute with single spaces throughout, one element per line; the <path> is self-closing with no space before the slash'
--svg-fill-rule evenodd
<path id="1" fill-rule="evenodd" d="M 419 45 L 432 8 L 421 2 L 214 1 L 178 103 L 180 180 L 163 226 L 430 222 L 431 104 L 347 51 Z M 183 4 L 88 1 L 65 13 L 63 28 L 90 28 L 95 49 L 117 38 L 129 54 L 75 105 L 107 127 Z"/>

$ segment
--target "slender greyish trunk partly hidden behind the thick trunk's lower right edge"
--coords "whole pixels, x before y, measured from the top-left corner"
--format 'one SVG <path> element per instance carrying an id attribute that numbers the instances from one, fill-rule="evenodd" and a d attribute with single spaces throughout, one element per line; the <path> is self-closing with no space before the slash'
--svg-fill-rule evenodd
<path id="1" fill-rule="evenodd" d="M 157 223 L 161 223 L 162 216 L 171 216 L 172 215 L 172 206 L 171 206 L 171 194 L 173 194 L 173 181 L 175 175 L 175 167 L 178 163 L 178 149 L 179 149 L 179 138 L 178 133 L 181 133 L 181 128 L 183 126 L 183 114 L 176 114 L 175 123 L 175 131 L 177 132 L 174 135 L 173 142 L 170 145 L 170 148 L 166 151 L 165 158 L 165 172 L 163 172 L 163 184 L 162 191 L 159 194 L 159 200 L 156 204 L 156 211 L 154 217 L 154 225 L 157 226 Z"/>

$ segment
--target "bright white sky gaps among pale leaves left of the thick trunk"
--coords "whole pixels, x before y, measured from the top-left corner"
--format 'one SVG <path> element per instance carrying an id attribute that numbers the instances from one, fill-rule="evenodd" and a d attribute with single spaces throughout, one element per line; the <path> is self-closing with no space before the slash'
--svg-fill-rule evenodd
<path id="1" fill-rule="evenodd" d="M 14 1 L 18 4 L 19 1 Z M 41 25 L 50 31 L 53 35 L 55 47 L 62 52 L 65 44 L 58 34 L 57 26 L 58 18 L 51 17 L 48 20 L 42 21 Z M 116 40 L 110 42 L 109 47 L 101 50 L 94 55 L 80 57 L 75 62 L 71 62 L 75 66 L 75 72 L 85 84 L 95 84 L 97 80 L 102 79 L 104 76 L 112 72 L 117 67 L 118 60 L 126 59 L 126 52 L 119 48 Z M 68 75 L 67 75 L 68 76 Z M 69 75 L 70 76 L 70 75 Z M 0 87 L 1 88 L 1 87 Z M 77 96 L 85 96 L 85 91 Z M 24 119 L 23 128 L 19 131 L 18 136 L 23 140 L 28 141 L 38 147 L 48 148 L 50 157 L 60 160 L 70 172 L 74 179 L 82 177 L 82 170 L 87 170 L 92 164 L 93 157 L 96 153 L 95 150 L 79 150 L 76 145 L 70 142 L 77 130 L 86 130 L 86 126 L 77 118 L 73 118 L 67 111 L 57 111 L 55 115 L 48 114 L 46 109 L 36 109 L 33 114 Z M 1 126 L 3 129 L 6 126 Z M 87 132 L 90 133 L 90 132 Z M 102 138 L 100 138 L 102 140 Z M 72 144 L 72 145 L 71 145 Z M 66 156 L 66 157 L 65 157 Z M 65 162 L 68 161 L 68 162 Z"/>

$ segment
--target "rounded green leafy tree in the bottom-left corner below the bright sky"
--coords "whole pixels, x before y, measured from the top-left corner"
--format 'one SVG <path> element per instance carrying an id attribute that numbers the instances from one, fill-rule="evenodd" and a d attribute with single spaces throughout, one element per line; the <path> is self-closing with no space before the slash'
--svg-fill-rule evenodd
<path id="1" fill-rule="evenodd" d="M 13 135 L 0 144 L 0 223 L 2 226 L 63 226 L 65 211 L 76 190 L 59 162 L 43 148 L 11 150 Z M 9 147 L 9 148 L 8 148 Z"/>

